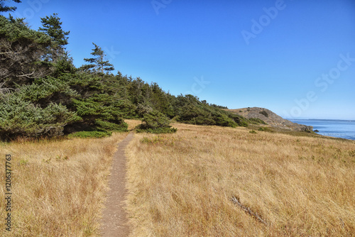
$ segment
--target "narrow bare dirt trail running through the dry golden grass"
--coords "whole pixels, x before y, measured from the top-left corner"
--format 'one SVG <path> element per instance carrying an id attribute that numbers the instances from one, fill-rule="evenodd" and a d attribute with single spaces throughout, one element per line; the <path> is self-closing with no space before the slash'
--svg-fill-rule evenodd
<path id="1" fill-rule="evenodd" d="M 126 195 L 126 155 L 124 149 L 132 140 L 133 133 L 129 133 L 122 140 L 114 153 L 112 161 L 111 177 L 109 178 L 109 192 L 103 211 L 102 236 L 129 236 L 126 211 L 124 211 L 124 199 Z"/>

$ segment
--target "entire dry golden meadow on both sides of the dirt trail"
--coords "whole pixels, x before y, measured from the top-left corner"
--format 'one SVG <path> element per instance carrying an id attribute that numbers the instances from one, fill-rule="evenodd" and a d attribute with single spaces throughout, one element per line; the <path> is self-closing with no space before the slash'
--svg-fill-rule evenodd
<path id="1" fill-rule="evenodd" d="M 354 141 L 172 125 L 177 133 L 136 133 L 126 149 L 131 236 L 354 236 Z M 13 231 L 3 224 L 0 236 L 99 236 L 126 134 L 0 143 L 13 185 Z"/>

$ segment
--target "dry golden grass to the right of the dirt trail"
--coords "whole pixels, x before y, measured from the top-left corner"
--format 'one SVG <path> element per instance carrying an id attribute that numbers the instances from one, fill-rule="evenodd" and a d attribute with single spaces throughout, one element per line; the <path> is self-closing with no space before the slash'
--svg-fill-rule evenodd
<path id="1" fill-rule="evenodd" d="M 173 126 L 127 148 L 131 236 L 354 236 L 354 141 Z"/>

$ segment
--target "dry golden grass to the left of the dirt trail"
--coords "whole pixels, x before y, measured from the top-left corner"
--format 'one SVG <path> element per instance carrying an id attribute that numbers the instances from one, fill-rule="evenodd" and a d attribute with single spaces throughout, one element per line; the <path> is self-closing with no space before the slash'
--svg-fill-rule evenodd
<path id="1" fill-rule="evenodd" d="M 116 143 L 109 138 L 1 143 L 0 236 L 97 236 Z M 5 155 L 11 154 L 12 231 L 5 231 Z"/>

